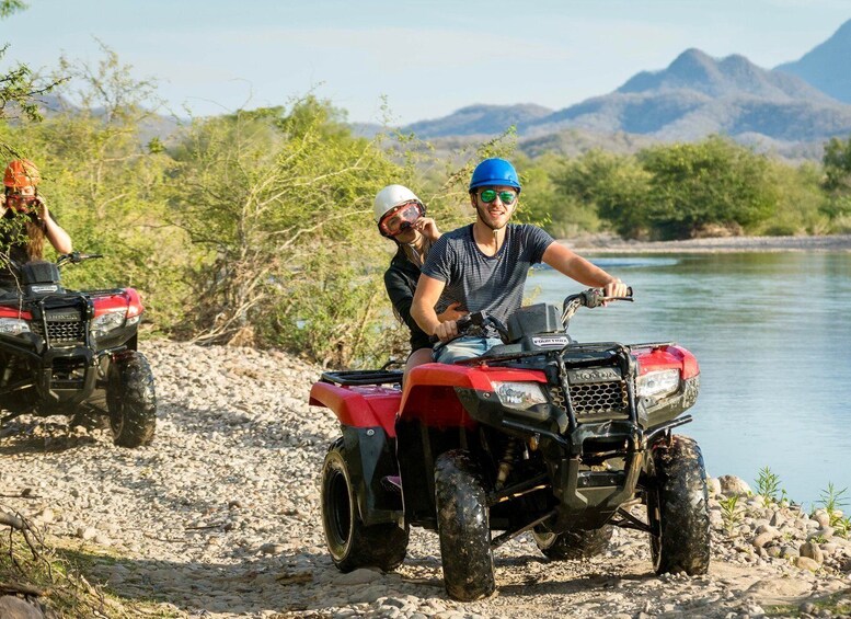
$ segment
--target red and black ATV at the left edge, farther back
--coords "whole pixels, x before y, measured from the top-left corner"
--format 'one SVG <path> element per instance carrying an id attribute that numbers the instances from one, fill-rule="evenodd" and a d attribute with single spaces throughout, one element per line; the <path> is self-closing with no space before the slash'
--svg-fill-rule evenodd
<path id="1" fill-rule="evenodd" d="M 145 308 L 133 288 L 66 290 L 59 266 L 101 257 L 78 252 L 20 267 L 0 290 L 0 424 L 24 414 L 106 416 L 116 445 L 153 439 L 153 374 L 136 351 Z"/>

